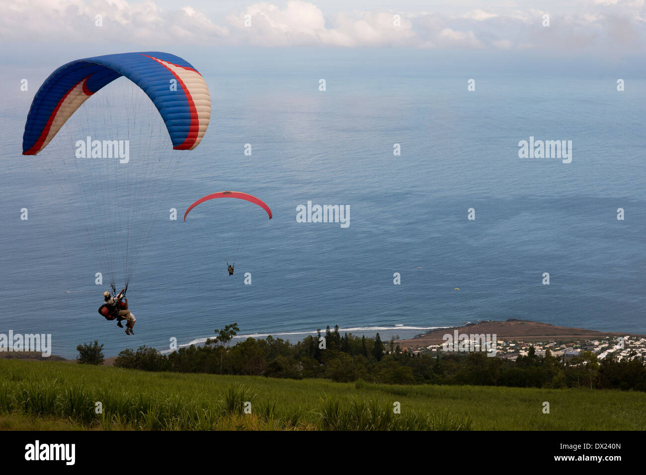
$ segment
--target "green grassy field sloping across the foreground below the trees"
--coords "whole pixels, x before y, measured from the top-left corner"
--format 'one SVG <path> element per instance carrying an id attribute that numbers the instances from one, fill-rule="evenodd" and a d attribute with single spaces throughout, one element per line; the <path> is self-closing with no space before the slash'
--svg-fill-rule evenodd
<path id="1" fill-rule="evenodd" d="M 151 373 L 0 359 L 3 430 L 643 430 L 646 393 Z M 543 414 L 543 402 L 550 413 Z M 96 412 L 100 402 L 103 412 Z M 251 403 L 251 414 L 244 403 Z M 401 414 L 393 405 L 401 405 Z"/>

